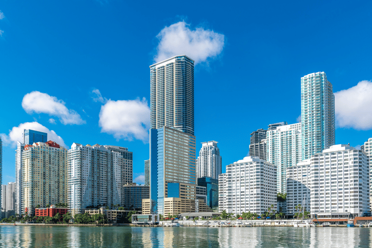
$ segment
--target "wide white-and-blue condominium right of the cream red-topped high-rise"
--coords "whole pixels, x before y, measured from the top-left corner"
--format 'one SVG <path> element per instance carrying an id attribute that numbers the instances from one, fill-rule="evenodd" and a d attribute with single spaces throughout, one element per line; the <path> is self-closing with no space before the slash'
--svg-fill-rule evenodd
<path id="1" fill-rule="evenodd" d="M 125 171 L 132 167 L 125 161 L 131 160 L 107 147 L 111 150 L 99 144 L 73 143 L 68 151 L 68 206 L 72 215 L 84 213 L 87 207 L 122 203 Z"/>

